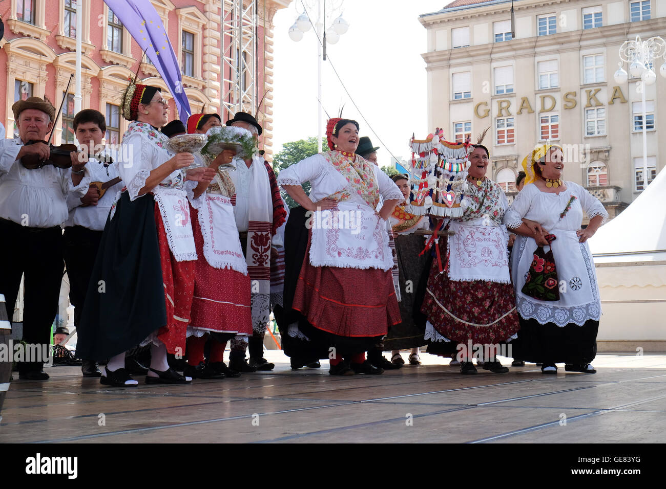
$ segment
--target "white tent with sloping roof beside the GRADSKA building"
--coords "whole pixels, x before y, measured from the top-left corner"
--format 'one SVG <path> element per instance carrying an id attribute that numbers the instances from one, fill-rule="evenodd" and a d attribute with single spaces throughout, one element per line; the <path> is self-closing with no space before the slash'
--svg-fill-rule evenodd
<path id="1" fill-rule="evenodd" d="M 603 310 L 599 351 L 666 351 L 666 170 L 589 247 Z"/>

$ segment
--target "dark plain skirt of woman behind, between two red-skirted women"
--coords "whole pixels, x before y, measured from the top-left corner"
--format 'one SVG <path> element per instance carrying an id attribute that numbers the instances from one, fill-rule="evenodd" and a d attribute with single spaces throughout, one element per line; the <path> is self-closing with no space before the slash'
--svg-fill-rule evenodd
<path id="1" fill-rule="evenodd" d="M 419 255 L 424 249 L 423 236 L 408 234 L 396 236 L 398 274 L 400 281 L 400 317 L 402 323 L 390 327 L 384 338 L 384 351 L 422 347 L 426 315 L 421 312 L 424 292 L 430 270 L 430 253 Z"/>

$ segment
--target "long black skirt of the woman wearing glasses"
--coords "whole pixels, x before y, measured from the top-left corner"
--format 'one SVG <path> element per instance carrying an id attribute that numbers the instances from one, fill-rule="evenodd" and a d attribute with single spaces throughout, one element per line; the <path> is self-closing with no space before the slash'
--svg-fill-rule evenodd
<path id="1" fill-rule="evenodd" d="M 123 192 L 107 218 L 91 275 L 77 356 L 102 360 L 119 355 L 166 325 L 155 200 L 135 201 Z"/>

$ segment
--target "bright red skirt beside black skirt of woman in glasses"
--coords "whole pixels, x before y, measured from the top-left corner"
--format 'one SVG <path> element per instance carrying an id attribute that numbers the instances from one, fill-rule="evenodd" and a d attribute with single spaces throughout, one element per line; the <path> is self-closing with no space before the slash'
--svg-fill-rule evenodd
<path id="1" fill-rule="evenodd" d="M 168 353 L 182 355 L 185 351 L 187 325 L 190 323 L 196 261 L 176 261 L 174 258 L 168 247 L 165 225 L 157 202 L 155 203 L 155 224 L 166 303 L 166 325 L 159 329 L 157 337 L 166 345 Z M 178 348 L 180 348 L 179 351 Z"/>

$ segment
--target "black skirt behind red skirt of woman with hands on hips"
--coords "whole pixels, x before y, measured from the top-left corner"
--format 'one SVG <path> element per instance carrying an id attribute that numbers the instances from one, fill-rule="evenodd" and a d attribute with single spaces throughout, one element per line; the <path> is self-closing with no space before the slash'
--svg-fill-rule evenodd
<path id="1" fill-rule="evenodd" d="M 328 359 L 330 348 L 335 348 L 336 355 L 347 357 L 371 349 L 381 337 L 341 337 L 322 331 L 312 326 L 299 312 L 292 309 L 298 275 L 306 256 L 309 230 L 306 227 L 306 210 L 301 206 L 289 211 L 289 219 L 284 228 L 284 307 L 273 311 L 280 329 L 284 354 L 298 361 L 308 362 L 315 359 Z M 300 332 L 310 341 L 288 335 L 288 326 L 296 323 Z"/>

